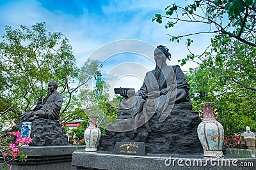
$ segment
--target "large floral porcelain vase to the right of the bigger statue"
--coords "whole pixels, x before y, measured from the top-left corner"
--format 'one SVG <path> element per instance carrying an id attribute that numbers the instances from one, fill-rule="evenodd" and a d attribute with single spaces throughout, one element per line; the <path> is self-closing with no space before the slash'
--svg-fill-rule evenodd
<path id="1" fill-rule="evenodd" d="M 204 149 L 204 156 L 223 157 L 224 129 L 214 117 L 214 103 L 202 103 L 200 106 L 202 106 L 204 118 L 197 127 L 197 134 Z"/>

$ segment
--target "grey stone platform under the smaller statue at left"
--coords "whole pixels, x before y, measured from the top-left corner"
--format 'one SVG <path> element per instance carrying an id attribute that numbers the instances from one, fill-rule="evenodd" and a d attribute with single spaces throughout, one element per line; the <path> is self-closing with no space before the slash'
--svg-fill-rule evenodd
<path id="1" fill-rule="evenodd" d="M 68 170 L 72 152 L 83 150 L 85 146 L 22 146 L 20 150 L 28 155 L 26 162 L 13 161 L 12 170 Z"/>

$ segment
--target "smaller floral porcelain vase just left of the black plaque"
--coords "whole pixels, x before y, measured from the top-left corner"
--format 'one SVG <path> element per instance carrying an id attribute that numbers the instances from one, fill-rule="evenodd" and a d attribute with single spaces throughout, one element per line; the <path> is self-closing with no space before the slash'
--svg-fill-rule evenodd
<path id="1" fill-rule="evenodd" d="M 84 131 L 84 141 L 85 141 L 85 151 L 97 151 L 97 146 L 100 141 L 101 132 L 97 127 L 97 120 L 99 116 L 90 115 L 89 116 L 89 127 Z"/>

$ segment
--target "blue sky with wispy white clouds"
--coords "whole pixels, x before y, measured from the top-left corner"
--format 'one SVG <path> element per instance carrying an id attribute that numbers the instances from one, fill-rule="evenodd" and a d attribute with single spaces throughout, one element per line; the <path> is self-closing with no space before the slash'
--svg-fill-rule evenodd
<path id="1" fill-rule="evenodd" d="M 87 0 L 0 0 L 0 34 L 4 34 L 4 25 L 30 27 L 36 22 L 46 22 L 47 29 L 51 32 L 61 32 L 70 40 L 77 59 L 77 65 L 82 66 L 84 61 L 93 51 L 106 43 L 119 39 L 138 39 L 152 46 L 166 45 L 172 53 L 171 64 L 179 64 L 177 60 L 183 59 L 188 54 L 184 41 L 170 43 L 166 34 L 180 35 L 195 30 L 204 29 L 202 25 L 179 24 L 172 30 L 165 29 L 164 24 L 151 22 L 156 13 L 164 13 L 164 8 L 169 4 L 188 4 L 184 0 L 138 0 L 138 1 L 87 1 Z M 209 36 L 198 36 L 194 39 L 192 51 L 200 53 L 209 45 Z M 140 48 L 140 47 L 137 47 Z M 153 52 L 148 52 L 153 53 Z M 154 63 L 141 55 L 121 53 L 109 57 L 104 63 L 102 73 L 104 76 L 113 73 L 113 67 L 124 62 L 134 62 L 138 72 L 154 69 Z M 128 64 L 129 65 L 129 64 Z M 143 66 L 147 69 L 143 69 Z M 189 63 L 182 67 L 188 71 L 189 67 L 196 67 Z M 125 67 L 122 67 L 124 69 Z M 127 69 L 134 69 L 130 65 Z M 141 70 L 140 70 L 141 68 Z M 118 71 L 117 71 L 118 72 Z M 125 74 L 127 74 L 125 79 Z M 128 75 L 129 71 L 119 77 L 122 82 L 115 85 L 122 86 L 129 83 L 130 87 L 141 86 L 141 78 Z M 124 83 L 125 82 L 125 83 Z"/>

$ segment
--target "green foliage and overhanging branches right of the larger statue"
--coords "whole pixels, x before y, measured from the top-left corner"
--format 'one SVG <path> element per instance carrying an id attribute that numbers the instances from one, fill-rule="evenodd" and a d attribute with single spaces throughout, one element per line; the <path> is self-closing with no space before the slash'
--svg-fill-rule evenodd
<path id="1" fill-rule="evenodd" d="M 179 22 L 208 25 L 207 31 L 170 35 L 170 41 L 186 39 L 188 50 L 196 34 L 213 34 L 211 45 L 202 54 L 189 50 L 186 61 L 199 59 L 198 67 L 187 75 L 191 85 L 191 102 L 214 101 L 225 134 L 256 129 L 256 3 L 254 0 L 201 0 L 187 6 L 166 7 L 166 15 L 156 14 L 152 21 L 166 21 L 166 29 Z"/>

